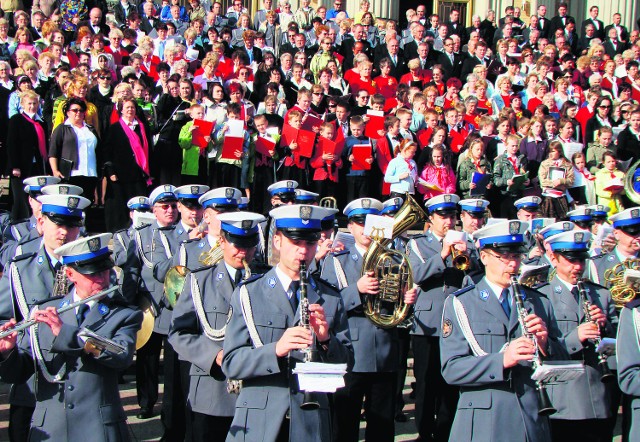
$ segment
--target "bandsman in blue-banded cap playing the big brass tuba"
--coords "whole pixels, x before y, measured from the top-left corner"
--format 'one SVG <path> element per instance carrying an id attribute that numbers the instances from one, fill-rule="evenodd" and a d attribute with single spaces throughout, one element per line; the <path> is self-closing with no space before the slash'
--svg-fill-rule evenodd
<path id="1" fill-rule="evenodd" d="M 393 441 L 395 390 L 399 369 L 398 331 L 396 327 L 382 328 L 374 324 L 364 312 L 364 297 L 379 294 L 379 281 L 373 271 L 363 274 L 363 257 L 372 244 L 364 234 L 367 215 L 378 215 L 382 203 L 373 198 L 360 198 L 345 207 L 349 232 L 355 244 L 331 255 L 322 277 L 340 289 L 349 318 L 355 363 L 345 376 L 345 388 L 334 395 L 335 435 L 338 441 L 357 441 L 360 409 L 364 398 L 365 439 Z M 361 276 L 362 275 L 362 276 Z M 416 290 L 404 294 L 407 304 L 414 304 Z"/>

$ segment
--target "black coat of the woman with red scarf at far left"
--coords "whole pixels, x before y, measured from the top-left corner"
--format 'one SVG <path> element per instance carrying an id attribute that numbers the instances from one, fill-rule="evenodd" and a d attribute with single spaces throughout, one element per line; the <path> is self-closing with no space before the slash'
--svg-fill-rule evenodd
<path id="1" fill-rule="evenodd" d="M 45 124 L 38 120 L 36 122 L 45 132 L 45 143 L 47 143 Z M 7 130 L 7 168 L 9 172 L 12 169 L 20 169 L 22 179 L 41 175 L 49 170 L 46 161 L 47 159 L 40 155 L 38 135 L 33 124 L 27 121 L 22 113 L 11 117 Z"/>

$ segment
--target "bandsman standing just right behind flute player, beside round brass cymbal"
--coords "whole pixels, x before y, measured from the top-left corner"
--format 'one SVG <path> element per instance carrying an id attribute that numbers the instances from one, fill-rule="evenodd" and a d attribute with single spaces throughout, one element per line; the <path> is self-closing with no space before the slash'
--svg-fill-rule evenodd
<path id="1" fill-rule="evenodd" d="M 184 413 L 184 405 L 180 407 L 180 382 L 173 380 L 177 376 L 178 360 L 166 336 L 171 324 L 171 310 L 164 299 L 164 275 L 173 264 L 175 244 L 175 223 L 178 219 L 178 205 L 175 187 L 166 184 L 151 192 L 153 215 L 156 220 L 152 224 L 137 227 L 134 240 L 129 243 L 127 262 L 123 267 L 122 291 L 129 303 L 137 304 L 139 297 L 146 297 L 152 304 L 155 316 L 153 333 L 149 341 L 138 349 L 136 359 L 136 390 L 140 411 L 139 419 L 153 416 L 153 406 L 158 400 L 160 352 L 164 342 L 164 376 L 165 391 L 162 402 L 162 423 L 165 436 L 176 431 L 181 432 L 180 410 Z M 175 401 L 174 401 L 174 396 Z M 177 428 L 173 425 L 174 420 Z M 184 419 L 183 419 L 184 420 Z M 182 429 L 184 431 L 184 429 Z"/>

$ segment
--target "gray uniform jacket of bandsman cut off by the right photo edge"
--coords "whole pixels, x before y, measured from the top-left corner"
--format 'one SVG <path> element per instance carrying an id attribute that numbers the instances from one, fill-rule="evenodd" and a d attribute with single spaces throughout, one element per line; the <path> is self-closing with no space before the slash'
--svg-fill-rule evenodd
<path id="1" fill-rule="evenodd" d="M 618 383 L 623 393 L 631 396 L 631 430 L 628 440 L 640 439 L 640 299 L 628 303 L 620 311 L 616 359 Z"/>

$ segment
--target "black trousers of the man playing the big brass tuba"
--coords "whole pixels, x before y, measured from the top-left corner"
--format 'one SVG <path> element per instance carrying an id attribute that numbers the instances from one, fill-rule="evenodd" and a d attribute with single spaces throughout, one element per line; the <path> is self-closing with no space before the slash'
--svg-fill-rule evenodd
<path id="1" fill-rule="evenodd" d="M 393 441 L 397 372 L 347 373 L 345 387 L 334 395 L 334 436 L 337 442 L 357 442 L 362 401 L 367 416 L 365 440 Z"/>

